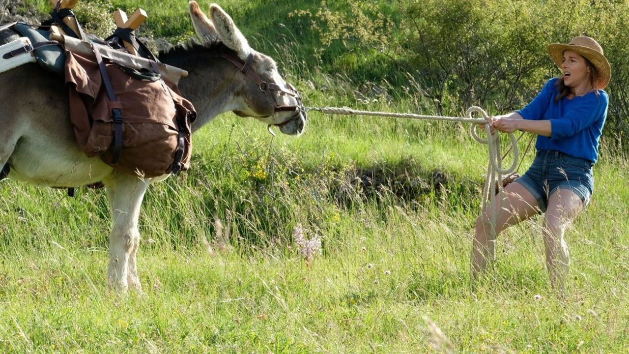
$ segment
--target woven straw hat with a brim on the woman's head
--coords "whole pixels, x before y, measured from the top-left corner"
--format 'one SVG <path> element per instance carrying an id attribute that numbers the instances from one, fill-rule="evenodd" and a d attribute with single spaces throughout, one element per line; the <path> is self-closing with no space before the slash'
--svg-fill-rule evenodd
<path id="1" fill-rule="evenodd" d="M 596 86 L 599 89 L 604 89 L 607 84 L 610 83 L 611 67 L 603 55 L 603 48 L 593 38 L 579 36 L 574 37 L 568 44 L 553 43 L 548 45 L 548 54 L 555 64 L 561 69 L 561 62 L 564 59 L 564 50 L 572 50 L 594 64 L 596 71 L 598 71 L 598 77 L 596 79 Z"/>

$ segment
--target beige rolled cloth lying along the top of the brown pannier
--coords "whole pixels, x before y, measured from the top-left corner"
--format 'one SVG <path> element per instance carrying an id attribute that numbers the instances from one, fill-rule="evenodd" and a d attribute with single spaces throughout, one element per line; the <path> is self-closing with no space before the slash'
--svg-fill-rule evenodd
<path id="1" fill-rule="evenodd" d="M 64 45 L 65 50 L 70 50 L 70 52 L 88 55 L 94 54 L 92 43 L 85 42 L 77 38 L 64 36 Z M 94 45 L 98 44 L 94 43 Z M 125 52 L 121 52 L 120 50 L 111 49 L 109 47 L 105 47 L 104 45 L 100 45 L 98 47 L 98 50 L 99 52 L 101 52 L 101 55 L 103 55 L 103 57 L 113 60 L 114 62 L 116 62 L 116 64 L 136 70 L 153 69 L 153 66 L 151 66 L 151 62 L 148 59 L 144 59 L 136 55 L 127 54 Z M 181 79 L 181 76 L 184 73 L 182 69 L 162 63 L 157 63 L 157 66 L 159 67 L 160 74 L 162 74 L 162 77 L 165 80 L 170 81 L 170 83 L 173 83 L 175 85 L 179 84 L 179 79 Z"/>

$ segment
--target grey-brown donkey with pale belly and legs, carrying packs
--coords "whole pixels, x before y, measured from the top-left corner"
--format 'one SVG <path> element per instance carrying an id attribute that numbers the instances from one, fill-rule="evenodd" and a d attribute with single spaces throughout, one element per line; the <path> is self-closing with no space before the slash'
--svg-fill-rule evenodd
<path id="1" fill-rule="evenodd" d="M 306 113 L 295 89 L 278 74 L 274 60 L 253 50 L 217 4 L 211 4 L 209 18 L 195 1 L 189 3 L 189 13 L 202 44 L 170 50 L 159 59 L 189 72 L 179 89 L 198 113 L 192 131 L 233 111 L 256 118 L 269 129 L 276 125 L 284 134 L 300 135 Z M 0 38 L 10 40 L 11 35 L 0 33 Z M 113 220 L 108 285 L 122 291 L 141 290 L 136 267 L 140 205 L 147 186 L 165 176 L 137 178 L 97 157 L 86 157 L 70 124 L 63 80 L 38 65 L 25 64 L 0 74 L 0 88 L 0 168 L 10 168 L 9 179 L 40 186 L 102 182 Z"/>

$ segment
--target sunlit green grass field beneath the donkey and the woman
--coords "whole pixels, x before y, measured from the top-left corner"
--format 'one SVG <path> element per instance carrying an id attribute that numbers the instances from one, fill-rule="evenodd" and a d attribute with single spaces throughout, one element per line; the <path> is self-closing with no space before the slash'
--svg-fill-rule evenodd
<path id="1" fill-rule="evenodd" d="M 291 66 L 291 55 L 274 54 L 306 105 L 434 113 L 412 94 L 360 103 L 343 77 Z M 499 237 L 472 287 L 487 151 L 465 125 L 311 113 L 303 136 L 272 138 L 229 113 L 193 142 L 191 170 L 145 198 L 142 294 L 106 287 L 104 191 L 0 183 L 0 352 L 629 351 L 629 163 L 605 146 L 593 199 L 567 231 L 559 299 L 540 218 Z M 323 237 L 309 263 L 292 242 L 299 225 Z"/>

